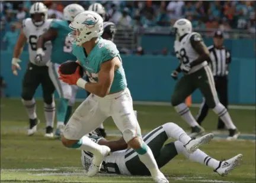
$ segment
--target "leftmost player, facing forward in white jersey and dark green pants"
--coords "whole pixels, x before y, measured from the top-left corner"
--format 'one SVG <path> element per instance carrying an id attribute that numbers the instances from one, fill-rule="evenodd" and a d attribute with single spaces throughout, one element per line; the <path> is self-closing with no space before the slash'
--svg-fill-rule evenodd
<path id="1" fill-rule="evenodd" d="M 46 136 L 51 136 L 52 131 L 49 129 L 53 127 L 55 118 L 55 101 L 53 98 L 55 87 L 49 77 L 46 64 L 52 54 L 52 43 L 48 41 L 44 44 L 43 50 L 46 53 L 46 57 L 42 61 L 38 62 L 34 58 L 36 57 L 37 39 L 49 29 L 52 19 L 47 19 L 47 8 L 42 2 L 36 2 L 31 6 L 30 17 L 24 19 L 20 36 L 14 48 L 12 72 L 17 76 L 17 69 L 21 70 L 19 64 L 21 60 L 19 57 L 23 51 L 24 44 L 27 42 L 29 58 L 23 58 L 28 59 L 28 66 L 23 78 L 21 98 L 30 122 L 28 135 L 33 135 L 36 132 L 39 123 L 36 114 L 36 101 L 33 96 L 37 87 L 41 84 L 43 89 L 44 115 L 46 117 Z"/>

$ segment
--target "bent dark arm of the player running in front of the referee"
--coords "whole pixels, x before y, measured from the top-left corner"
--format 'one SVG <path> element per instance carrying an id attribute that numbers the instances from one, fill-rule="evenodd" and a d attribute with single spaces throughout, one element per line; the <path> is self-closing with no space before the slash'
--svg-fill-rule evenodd
<path id="1" fill-rule="evenodd" d="M 200 34 L 192 35 L 190 38 L 190 43 L 194 48 L 194 50 L 199 54 L 199 57 L 190 64 L 191 67 L 196 66 L 200 63 L 203 63 L 204 61 L 210 60 L 209 50 L 207 49 L 206 45 L 203 43 L 203 40 Z"/>

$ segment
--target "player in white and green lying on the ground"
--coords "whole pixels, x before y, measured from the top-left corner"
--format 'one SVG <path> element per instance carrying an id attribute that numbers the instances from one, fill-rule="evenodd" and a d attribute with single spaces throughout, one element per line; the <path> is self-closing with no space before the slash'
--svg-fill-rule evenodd
<path id="1" fill-rule="evenodd" d="M 100 145 L 106 145 L 111 149 L 110 156 L 104 158 L 101 172 L 121 175 L 150 175 L 148 169 L 139 161 L 137 153 L 132 149 L 126 149 L 127 143 L 123 138 L 109 141 L 98 136 L 96 132 L 89 133 L 88 137 L 92 141 Z M 165 144 L 169 138 L 174 138 L 176 141 Z M 172 158 L 181 153 L 190 161 L 209 166 L 220 176 L 228 175 L 233 168 L 239 165 L 242 154 L 226 161 L 217 161 L 200 149 L 197 149 L 212 138 L 213 134 L 210 133 L 193 140 L 175 123 L 165 123 L 143 136 L 143 140 L 152 149 L 159 168 L 168 164 Z M 87 171 L 91 165 L 92 158 L 92 153 L 81 151 L 82 166 Z"/>

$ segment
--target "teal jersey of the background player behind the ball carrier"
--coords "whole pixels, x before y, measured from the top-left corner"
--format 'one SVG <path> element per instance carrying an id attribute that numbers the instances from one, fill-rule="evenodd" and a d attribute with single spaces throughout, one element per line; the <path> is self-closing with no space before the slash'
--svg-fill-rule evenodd
<path id="1" fill-rule="evenodd" d="M 57 37 L 52 41 L 52 58 L 53 63 L 62 64 L 67 60 L 76 61 L 72 54 L 72 44 L 68 33 L 71 32 L 68 21 L 54 19 L 50 28 L 57 30 Z"/>

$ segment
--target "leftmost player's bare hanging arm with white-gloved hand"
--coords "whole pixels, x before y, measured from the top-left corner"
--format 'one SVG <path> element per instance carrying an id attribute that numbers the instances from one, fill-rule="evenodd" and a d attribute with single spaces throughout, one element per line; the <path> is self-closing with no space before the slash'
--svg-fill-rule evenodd
<path id="1" fill-rule="evenodd" d="M 19 57 L 23 51 L 23 47 L 26 41 L 27 41 L 27 37 L 25 37 L 23 30 L 21 30 L 20 35 L 18 37 L 18 41 L 14 47 L 14 53 L 12 56 L 12 73 L 16 76 L 18 75 L 17 69 L 21 70 L 20 64 L 18 64 L 19 62 L 21 62 Z"/>

